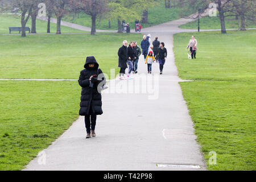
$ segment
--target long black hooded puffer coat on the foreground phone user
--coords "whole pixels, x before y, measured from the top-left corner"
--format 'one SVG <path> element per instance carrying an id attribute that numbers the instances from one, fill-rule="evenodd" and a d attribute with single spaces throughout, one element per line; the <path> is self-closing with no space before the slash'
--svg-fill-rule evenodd
<path id="1" fill-rule="evenodd" d="M 94 67 L 90 68 L 89 64 L 94 63 Z M 81 92 L 81 102 L 80 102 L 80 115 L 90 115 L 90 114 L 96 114 L 100 115 L 103 113 L 102 111 L 102 102 L 101 102 L 101 93 L 98 92 L 97 86 L 100 84 L 100 82 L 106 83 L 106 79 L 104 75 L 100 75 L 103 73 L 101 69 L 98 69 L 99 65 L 94 58 L 94 56 L 89 56 L 86 57 L 86 62 L 84 65 L 84 68 L 80 72 L 80 77 L 79 77 L 79 85 L 82 87 L 82 92 Z M 93 88 L 91 88 L 90 85 L 90 77 L 93 75 L 100 75 L 103 78 L 100 79 L 98 76 L 98 80 L 96 78 L 92 78 Z M 100 79 L 100 80 L 99 80 Z M 91 107 L 91 108 L 90 108 Z"/>

